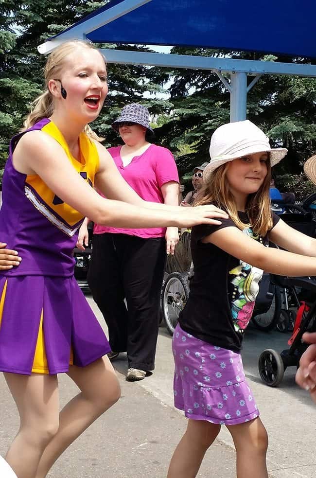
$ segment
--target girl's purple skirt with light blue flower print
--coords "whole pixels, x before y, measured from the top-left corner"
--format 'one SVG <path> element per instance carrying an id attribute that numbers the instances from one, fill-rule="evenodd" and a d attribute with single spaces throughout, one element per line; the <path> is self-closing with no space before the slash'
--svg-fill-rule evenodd
<path id="1" fill-rule="evenodd" d="M 259 416 L 241 354 L 195 338 L 179 324 L 172 342 L 175 407 L 187 418 L 238 425 Z"/>

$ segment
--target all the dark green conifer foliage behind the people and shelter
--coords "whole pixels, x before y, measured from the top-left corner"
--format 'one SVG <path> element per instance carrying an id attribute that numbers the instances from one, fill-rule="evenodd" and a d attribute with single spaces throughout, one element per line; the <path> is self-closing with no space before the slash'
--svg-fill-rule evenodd
<path id="1" fill-rule="evenodd" d="M 37 52 L 37 46 L 107 1 L 0 0 L 0 168 L 4 165 L 10 138 L 21 128 L 32 101 L 43 88 L 45 57 Z M 117 45 L 102 46 L 117 48 Z M 128 45 L 119 48 L 135 50 Z M 138 50 L 149 51 L 141 46 Z M 174 47 L 172 53 L 309 61 L 205 48 Z M 169 100 L 157 96 L 147 98 L 145 93 L 161 92 L 170 80 Z M 155 141 L 175 154 L 180 175 L 191 173 L 194 166 L 209 160 L 211 134 L 229 121 L 229 93 L 211 71 L 110 64 L 108 85 L 104 108 L 92 124 L 93 129 L 105 137 L 105 145 L 120 142 L 111 123 L 121 108 L 140 102 L 152 115 Z M 303 162 L 315 153 L 315 102 L 316 81 L 310 78 L 263 75 L 249 92 L 248 118 L 268 134 L 274 146 L 285 146 L 289 150 L 287 158 L 276 166 L 278 175 L 290 173 L 298 175 L 294 178 L 300 177 Z M 300 184 L 298 181 L 295 187 L 303 187 Z"/>

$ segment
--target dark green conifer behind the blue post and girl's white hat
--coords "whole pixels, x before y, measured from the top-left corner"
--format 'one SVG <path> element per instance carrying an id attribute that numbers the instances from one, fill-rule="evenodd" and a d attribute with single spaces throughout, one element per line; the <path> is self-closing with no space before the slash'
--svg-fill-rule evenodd
<path id="1" fill-rule="evenodd" d="M 198 54 L 264 61 L 308 62 L 259 53 L 222 52 L 208 49 L 173 48 L 171 53 Z M 199 70 L 155 69 L 156 81 L 165 84 L 174 104 L 171 121 L 158 129 L 159 139 L 178 152 L 180 173 L 192 171 L 209 160 L 211 135 L 229 121 L 229 93 L 214 73 Z M 229 77 L 226 76 L 226 79 Z M 248 83 L 251 81 L 251 77 Z M 288 148 L 288 155 L 276 166 L 278 174 L 298 174 L 303 162 L 316 150 L 316 81 L 294 76 L 263 75 L 247 98 L 248 118 L 270 137 L 272 146 Z M 194 144 L 194 154 L 182 154 L 178 144 Z"/>

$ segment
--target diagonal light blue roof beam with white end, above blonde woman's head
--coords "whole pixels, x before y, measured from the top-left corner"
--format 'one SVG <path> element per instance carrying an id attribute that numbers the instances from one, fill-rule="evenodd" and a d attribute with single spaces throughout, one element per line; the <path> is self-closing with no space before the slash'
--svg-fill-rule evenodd
<path id="1" fill-rule="evenodd" d="M 88 18 L 78 25 L 70 27 L 60 35 L 53 37 L 52 40 L 42 43 L 37 47 L 37 50 L 39 53 L 46 55 L 51 53 L 57 46 L 65 41 L 85 39 L 86 35 L 88 35 L 90 32 L 97 30 L 98 28 L 110 23 L 113 20 L 116 20 L 117 18 L 123 17 L 123 15 L 132 12 L 136 8 L 141 7 L 149 1 L 152 0 L 123 0 L 108 10 L 105 10 L 92 18 Z"/>

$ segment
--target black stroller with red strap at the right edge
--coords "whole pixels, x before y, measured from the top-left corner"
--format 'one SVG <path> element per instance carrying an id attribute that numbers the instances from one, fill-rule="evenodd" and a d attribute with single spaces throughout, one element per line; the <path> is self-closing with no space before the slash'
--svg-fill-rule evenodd
<path id="1" fill-rule="evenodd" d="M 293 208 L 293 205 L 291 207 Z M 294 229 L 316 237 L 316 222 L 313 221 L 311 213 L 302 210 L 299 206 L 297 210 L 299 212 L 283 213 L 282 220 Z M 301 340 L 303 333 L 316 330 L 316 278 L 283 277 L 274 274 L 270 274 L 270 278 L 272 283 L 284 291 L 285 308 L 281 313 L 287 317 L 288 321 L 294 320 L 293 334 L 288 340 L 290 348 L 283 350 L 281 354 L 273 349 L 266 349 L 259 357 L 258 367 L 263 382 L 270 387 L 276 387 L 281 383 L 287 367 L 298 368 L 299 359 L 307 348 Z M 297 307 L 294 318 L 289 305 Z"/>

